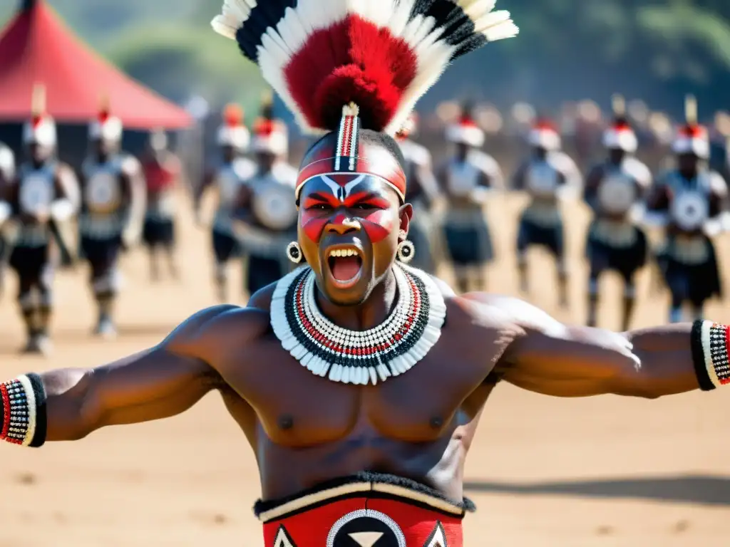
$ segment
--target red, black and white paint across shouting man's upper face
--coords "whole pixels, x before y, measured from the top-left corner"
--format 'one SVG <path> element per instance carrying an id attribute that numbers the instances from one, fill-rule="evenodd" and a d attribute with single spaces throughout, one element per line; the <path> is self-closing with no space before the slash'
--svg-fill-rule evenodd
<path id="1" fill-rule="evenodd" d="M 318 243 L 326 225 L 344 224 L 352 219 L 361 223 L 372 243 L 383 241 L 398 227 L 398 214 L 385 197 L 384 185 L 377 177 L 364 174 L 331 174 L 311 179 L 301 198 L 302 231 Z"/>

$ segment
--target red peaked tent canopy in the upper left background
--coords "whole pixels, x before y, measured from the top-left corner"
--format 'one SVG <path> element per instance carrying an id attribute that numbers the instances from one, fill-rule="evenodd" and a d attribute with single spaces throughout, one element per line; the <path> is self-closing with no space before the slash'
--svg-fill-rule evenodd
<path id="1" fill-rule="evenodd" d="M 0 120 L 31 115 L 36 84 L 45 85 L 47 112 L 59 122 L 87 123 L 107 96 L 128 128 L 183 128 L 191 117 L 116 69 L 82 43 L 44 0 L 25 0 L 0 34 Z"/>

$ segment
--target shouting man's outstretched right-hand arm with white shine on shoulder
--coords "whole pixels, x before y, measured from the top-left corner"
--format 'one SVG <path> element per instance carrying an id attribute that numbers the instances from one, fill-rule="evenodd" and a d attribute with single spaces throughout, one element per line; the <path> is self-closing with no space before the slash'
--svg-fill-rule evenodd
<path id="1" fill-rule="evenodd" d="M 557 397 L 611 393 L 656 398 L 712 389 L 727 373 L 721 370 L 727 358 L 726 330 L 710 322 L 613 333 L 563 325 L 514 298 L 466 298 L 485 303 L 512 325 L 512 341 L 494 372 L 530 391 Z"/>

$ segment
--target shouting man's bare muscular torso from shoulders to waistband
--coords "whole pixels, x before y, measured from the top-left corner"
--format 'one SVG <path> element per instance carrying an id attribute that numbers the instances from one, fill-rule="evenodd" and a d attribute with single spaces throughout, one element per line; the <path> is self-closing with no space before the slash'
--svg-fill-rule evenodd
<path id="1" fill-rule="evenodd" d="M 480 305 L 451 298 L 426 357 L 402 376 L 362 387 L 315 376 L 285 352 L 269 328 L 268 298 L 257 297 L 258 311 L 220 315 L 206 329 L 211 339 L 203 334 L 186 350 L 220 373 L 226 407 L 255 451 L 264 498 L 372 470 L 459 499 L 490 373 L 509 342 L 499 322 L 477 325 L 471 308 Z M 244 331 L 255 332 L 253 340 L 240 341 Z"/>

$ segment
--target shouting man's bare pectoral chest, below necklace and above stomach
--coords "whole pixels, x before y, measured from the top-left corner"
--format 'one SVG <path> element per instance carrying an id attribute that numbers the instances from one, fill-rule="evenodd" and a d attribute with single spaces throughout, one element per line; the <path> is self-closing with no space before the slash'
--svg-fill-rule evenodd
<path id="1" fill-rule="evenodd" d="M 355 386 L 311 373 L 269 333 L 228 357 L 226 382 L 255 411 L 266 438 L 284 446 L 315 446 L 350 435 L 431 441 L 474 417 L 471 410 L 458 414 L 490 370 L 490 350 L 476 334 L 445 327 L 410 371 L 374 386 Z"/>

